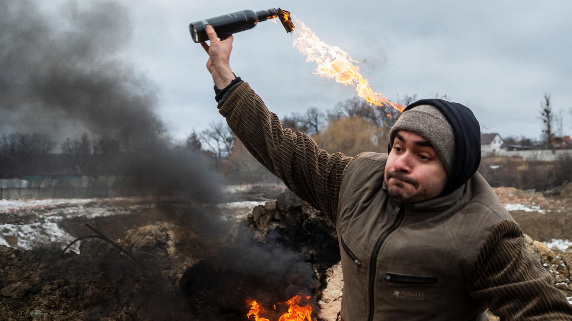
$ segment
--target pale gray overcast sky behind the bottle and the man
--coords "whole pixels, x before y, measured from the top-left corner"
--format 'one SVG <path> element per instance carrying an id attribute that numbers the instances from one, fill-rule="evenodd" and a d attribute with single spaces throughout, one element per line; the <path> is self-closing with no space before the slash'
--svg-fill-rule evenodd
<path id="1" fill-rule="evenodd" d="M 126 57 L 160 89 L 162 119 L 175 137 L 223 118 L 207 56 L 188 25 L 243 9 L 281 7 L 329 45 L 360 61 L 372 89 L 396 99 L 442 98 L 467 105 L 483 132 L 539 137 L 549 93 L 572 132 L 572 1 L 150 1 L 129 0 L 133 39 Z M 316 65 L 280 25 L 235 34 L 233 71 L 280 117 L 330 109 L 353 87 L 312 74 Z"/>

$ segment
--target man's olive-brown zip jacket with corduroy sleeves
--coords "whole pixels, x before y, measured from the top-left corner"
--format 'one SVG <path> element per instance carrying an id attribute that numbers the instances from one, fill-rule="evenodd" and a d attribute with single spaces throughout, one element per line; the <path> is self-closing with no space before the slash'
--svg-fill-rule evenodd
<path id="1" fill-rule="evenodd" d="M 486 307 L 502 320 L 572 320 L 572 306 L 478 173 L 442 198 L 402 205 L 384 187 L 387 154 L 329 154 L 283 129 L 244 82 L 219 109 L 260 163 L 335 224 L 345 321 L 480 321 Z"/>

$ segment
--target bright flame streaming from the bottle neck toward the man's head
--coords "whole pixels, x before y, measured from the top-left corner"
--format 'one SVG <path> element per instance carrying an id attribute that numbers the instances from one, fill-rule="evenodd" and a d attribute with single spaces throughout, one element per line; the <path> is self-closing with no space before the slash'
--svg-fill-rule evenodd
<path id="1" fill-rule="evenodd" d="M 317 37 L 316 33 L 309 29 L 304 22 L 292 16 L 296 22 L 294 29 L 294 46 L 301 54 L 306 55 L 307 62 L 316 62 L 318 67 L 315 74 L 321 77 L 333 78 L 336 82 L 345 86 L 356 86 L 358 96 L 366 99 L 370 106 L 392 106 L 399 111 L 405 109 L 404 105 L 388 101 L 385 95 L 376 93 L 370 88 L 370 84 L 359 73 L 358 63 L 349 57 L 349 54 L 340 47 L 327 45 Z"/>

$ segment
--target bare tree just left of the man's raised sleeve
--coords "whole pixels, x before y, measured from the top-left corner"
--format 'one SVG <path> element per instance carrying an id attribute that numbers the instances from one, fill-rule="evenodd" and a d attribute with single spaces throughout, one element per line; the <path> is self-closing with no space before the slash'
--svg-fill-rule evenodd
<path id="1" fill-rule="evenodd" d="M 204 143 L 202 146 L 215 156 L 218 164 L 220 164 L 223 158 L 231 154 L 235 140 L 235 134 L 222 121 L 211 122 L 209 129 L 205 129 L 200 134 L 200 141 Z"/>

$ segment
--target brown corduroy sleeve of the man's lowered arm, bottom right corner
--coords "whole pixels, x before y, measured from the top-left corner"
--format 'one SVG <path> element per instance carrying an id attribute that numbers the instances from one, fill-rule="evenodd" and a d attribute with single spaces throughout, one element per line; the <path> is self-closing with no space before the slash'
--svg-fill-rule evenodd
<path id="1" fill-rule="evenodd" d="M 572 321 L 572 305 L 526 250 L 513 220 L 502 220 L 487 236 L 470 278 L 471 296 L 501 320 Z"/>

